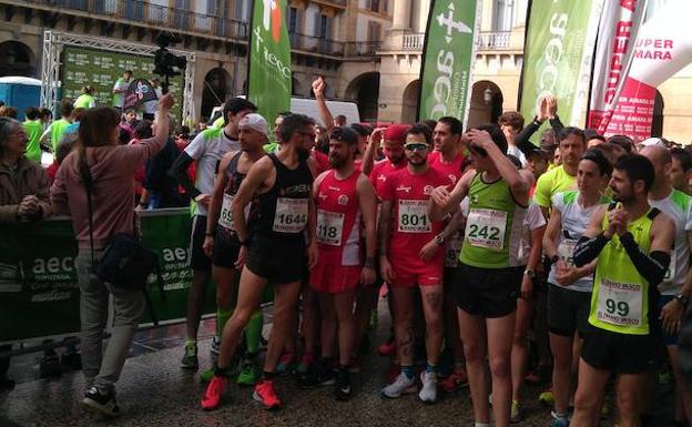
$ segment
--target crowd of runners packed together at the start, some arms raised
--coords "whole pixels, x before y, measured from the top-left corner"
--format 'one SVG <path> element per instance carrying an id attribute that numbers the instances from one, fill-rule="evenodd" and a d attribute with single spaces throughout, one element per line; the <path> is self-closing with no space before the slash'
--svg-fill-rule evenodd
<path id="1" fill-rule="evenodd" d="M 508 426 L 521 421 L 523 400 L 539 398 L 527 396 L 523 383 L 543 379 L 540 399 L 553 407 L 546 423 L 593 426 L 611 389 L 618 425 L 629 427 L 647 423 L 659 373 L 669 369 L 673 425 L 692 419 L 678 357 L 692 294 L 688 151 L 662 139 L 635 144 L 563 126 L 552 98 L 527 126 L 518 112 L 506 112 L 498 124 L 468 130 L 451 116 L 370 129 L 334 120 L 320 79 L 313 90 L 328 144 L 315 148 L 314 118 L 286 112 L 272 118 L 269 130 L 257 108 L 237 98 L 224 104 L 223 124 L 200 132 L 170 167 L 194 202 L 183 368 L 200 367 L 202 295 L 210 279 L 216 286 L 217 334 L 213 365 L 201 374 L 208 380 L 202 409 L 223 405 L 231 382 L 254 386 L 264 408 L 281 407 L 274 379 L 286 373 L 304 388 L 330 385 L 337 400 L 347 400 L 353 378 L 372 362 L 360 349 L 386 288 L 391 337 L 378 348 L 393 359 L 379 392 L 386 398 L 416 393 L 434 404 L 439 393 L 468 386 L 475 426 L 491 418 Z M 130 146 L 131 156 L 112 155 L 112 163 L 132 162 L 118 176 L 165 146 L 161 135 L 171 132 L 160 118 L 171 104 L 161 98 L 154 135 Z M 71 180 L 79 182 L 78 159 L 91 159 L 82 149 L 93 145 L 82 140 L 100 134 L 92 121 L 114 128 L 120 121 L 109 108 L 89 111 L 79 150 L 57 171 L 51 207 L 32 199 L 17 211 L 20 218 L 24 211 L 72 211 L 78 270 L 89 246 L 78 232 L 84 215 L 75 217 L 83 195 Z M 535 145 L 529 138 L 543 122 L 550 126 Z M 0 122 L 3 161 L 16 133 L 26 140 L 11 125 Z M 92 174 L 105 152 L 93 149 Z M 110 211 L 100 220 L 113 220 L 118 209 Z M 113 221 L 131 227 L 132 211 Z M 113 231 L 102 223 L 96 237 Z M 261 306 L 268 302 L 265 343 Z M 109 359 L 106 350 L 101 360 L 93 344 L 99 326 L 92 318 L 92 342 L 82 338 L 84 403 L 115 415 L 124 355 Z M 113 345 L 126 348 L 130 329 L 114 333 Z"/>

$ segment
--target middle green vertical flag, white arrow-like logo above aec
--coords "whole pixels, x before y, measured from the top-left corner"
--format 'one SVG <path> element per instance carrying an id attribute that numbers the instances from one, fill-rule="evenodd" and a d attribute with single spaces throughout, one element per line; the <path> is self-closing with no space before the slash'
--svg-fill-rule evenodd
<path id="1" fill-rule="evenodd" d="M 466 122 L 476 58 L 476 0 L 430 4 L 420 68 L 417 120 L 451 115 Z"/>

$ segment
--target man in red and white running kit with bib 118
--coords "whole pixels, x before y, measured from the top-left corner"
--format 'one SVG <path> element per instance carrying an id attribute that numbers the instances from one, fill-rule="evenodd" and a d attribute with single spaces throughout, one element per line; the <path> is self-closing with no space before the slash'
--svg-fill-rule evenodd
<path id="1" fill-rule="evenodd" d="M 357 134 L 348 128 L 335 129 L 329 140 L 329 164 L 314 183 L 317 210 L 319 257 L 309 283 L 319 293 L 322 311 L 322 360 L 324 375 L 330 375 L 338 335 L 336 398 L 350 397 L 348 367 L 354 350 L 356 323 L 353 313 L 356 288 L 375 282 L 376 196 L 368 179 L 354 166 Z M 365 231 L 365 262 L 362 257 Z M 333 375 L 333 374 L 332 374 Z"/>

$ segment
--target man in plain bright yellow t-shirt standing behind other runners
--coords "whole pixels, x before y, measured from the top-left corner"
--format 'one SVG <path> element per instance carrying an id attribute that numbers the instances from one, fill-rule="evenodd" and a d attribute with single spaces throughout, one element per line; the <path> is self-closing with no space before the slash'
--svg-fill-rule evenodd
<path id="1" fill-rule="evenodd" d="M 541 207 L 546 217 L 550 214 L 551 200 L 557 193 L 574 190 L 577 170 L 587 150 L 584 133 L 578 128 L 564 128 L 558 134 L 562 164 L 542 174 L 536 183 L 533 201 Z"/>

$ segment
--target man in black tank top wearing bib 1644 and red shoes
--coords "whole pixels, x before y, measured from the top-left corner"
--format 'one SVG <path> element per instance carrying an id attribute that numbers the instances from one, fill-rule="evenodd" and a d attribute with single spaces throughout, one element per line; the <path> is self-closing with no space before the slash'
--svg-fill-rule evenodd
<path id="1" fill-rule="evenodd" d="M 237 305 L 223 331 L 217 372 L 202 399 L 204 409 L 218 407 L 226 386 L 224 370 L 268 282 L 275 289 L 274 329 L 263 379 L 255 386 L 253 398 L 267 409 L 281 406 L 274 392 L 274 370 L 292 326 L 303 270 L 306 263 L 312 267 L 317 261 L 314 171 L 307 162 L 315 140 L 315 121 L 292 114 L 284 119 L 278 133 L 282 150 L 251 167 L 233 201 L 232 214 L 242 245 L 237 265 L 244 267 Z M 246 218 L 244 210 L 251 201 L 253 205 Z"/>

